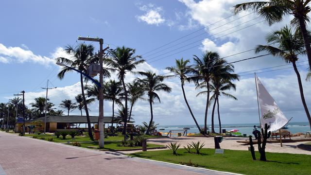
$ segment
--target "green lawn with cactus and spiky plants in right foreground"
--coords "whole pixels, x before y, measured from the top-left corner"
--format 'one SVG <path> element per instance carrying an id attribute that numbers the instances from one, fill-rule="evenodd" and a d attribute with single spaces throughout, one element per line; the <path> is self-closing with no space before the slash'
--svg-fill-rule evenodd
<path id="1" fill-rule="evenodd" d="M 311 156 L 266 153 L 267 162 L 252 160 L 249 151 L 225 150 L 222 155 L 214 156 L 215 150 L 204 148 L 201 155 L 187 153 L 185 149 L 178 149 L 178 156 L 174 156 L 171 150 L 147 151 L 129 154 L 133 157 L 141 157 L 171 163 L 191 162 L 197 163 L 199 167 L 246 175 L 308 175 L 311 172 Z M 256 152 L 259 158 L 259 153 Z"/>

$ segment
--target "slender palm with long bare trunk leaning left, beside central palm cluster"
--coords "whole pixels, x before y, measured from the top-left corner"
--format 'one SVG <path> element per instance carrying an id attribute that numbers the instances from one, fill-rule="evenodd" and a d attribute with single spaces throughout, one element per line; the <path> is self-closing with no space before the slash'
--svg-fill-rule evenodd
<path id="1" fill-rule="evenodd" d="M 187 65 L 190 62 L 190 60 L 187 59 L 187 60 L 184 61 L 183 58 L 181 58 L 180 60 L 176 59 L 175 62 L 176 62 L 176 66 L 175 67 L 167 67 L 166 69 L 170 70 L 171 72 L 173 72 L 174 73 L 173 76 L 176 76 L 176 77 L 180 78 L 181 89 L 183 91 L 184 100 L 186 102 L 186 105 L 188 106 L 188 109 L 190 111 L 192 119 L 194 120 L 194 123 L 196 124 L 196 127 L 199 129 L 200 133 L 202 133 L 202 130 L 201 130 L 198 122 L 196 121 L 196 119 L 195 119 L 195 117 L 194 117 L 194 115 L 192 113 L 192 110 L 191 110 L 190 105 L 188 103 L 188 100 L 186 98 L 186 93 L 185 93 L 185 89 L 184 89 L 185 80 L 189 82 L 190 79 L 187 76 L 192 71 L 190 66 Z"/>

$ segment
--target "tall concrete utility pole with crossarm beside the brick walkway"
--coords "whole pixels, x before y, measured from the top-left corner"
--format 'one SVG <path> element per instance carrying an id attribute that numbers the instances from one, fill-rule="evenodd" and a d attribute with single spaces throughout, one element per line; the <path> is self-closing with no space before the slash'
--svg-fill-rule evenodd
<path id="1" fill-rule="evenodd" d="M 102 38 L 89 38 L 89 37 L 79 37 L 78 40 L 84 40 L 84 41 L 95 41 L 99 42 L 100 44 L 100 51 L 99 51 L 99 59 L 100 59 L 100 67 L 101 70 L 99 72 L 99 117 L 98 117 L 98 129 L 99 129 L 99 147 L 104 148 L 104 90 L 103 90 L 103 79 L 104 79 L 104 70 L 103 70 L 103 53 L 105 50 L 107 50 L 109 47 L 105 48 L 103 50 L 103 44 L 104 39 Z"/>

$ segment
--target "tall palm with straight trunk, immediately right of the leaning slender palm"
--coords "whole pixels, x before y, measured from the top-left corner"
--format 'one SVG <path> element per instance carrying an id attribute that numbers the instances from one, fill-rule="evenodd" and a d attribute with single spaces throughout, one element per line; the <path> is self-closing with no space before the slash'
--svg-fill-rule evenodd
<path id="1" fill-rule="evenodd" d="M 214 65 L 220 56 L 217 52 L 206 51 L 203 53 L 202 58 L 193 55 L 194 58 L 194 69 L 193 69 L 193 79 L 196 81 L 196 88 L 207 88 L 207 102 L 205 108 L 204 116 L 204 134 L 207 134 L 207 112 L 209 106 L 209 93 L 210 93 L 210 80 L 213 76 Z"/>

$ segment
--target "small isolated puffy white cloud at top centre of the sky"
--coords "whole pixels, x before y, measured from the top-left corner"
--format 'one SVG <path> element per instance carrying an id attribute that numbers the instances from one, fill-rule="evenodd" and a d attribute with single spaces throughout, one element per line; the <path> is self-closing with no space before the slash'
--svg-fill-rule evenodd
<path id="1" fill-rule="evenodd" d="M 139 9 L 141 11 L 144 11 L 145 14 L 136 16 L 138 21 L 144 21 L 147 24 L 157 25 L 157 26 L 165 22 L 165 18 L 163 18 L 161 15 L 163 13 L 162 7 L 156 7 L 154 4 L 150 3 L 147 5 L 140 6 Z"/>

